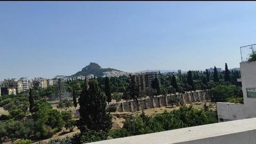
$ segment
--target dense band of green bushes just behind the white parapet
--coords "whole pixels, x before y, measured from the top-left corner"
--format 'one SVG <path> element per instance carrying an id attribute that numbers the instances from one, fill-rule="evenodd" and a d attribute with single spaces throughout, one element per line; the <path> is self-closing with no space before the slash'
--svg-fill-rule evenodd
<path id="1" fill-rule="evenodd" d="M 193 108 L 192 105 L 181 105 L 179 110 L 165 111 L 154 117 L 143 113 L 140 116 L 130 116 L 122 129 L 126 129 L 131 135 L 138 135 L 217 122 L 216 111 L 203 111 Z M 118 132 L 119 130 L 113 130 L 109 135 L 113 138 L 121 137 Z"/>

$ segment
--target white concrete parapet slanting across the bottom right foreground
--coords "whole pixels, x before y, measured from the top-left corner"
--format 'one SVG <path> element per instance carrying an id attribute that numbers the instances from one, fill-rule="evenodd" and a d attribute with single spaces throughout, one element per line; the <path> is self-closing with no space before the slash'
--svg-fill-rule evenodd
<path id="1" fill-rule="evenodd" d="M 91 144 L 240 144 L 256 143 L 256 118 L 91 142 Z"/>

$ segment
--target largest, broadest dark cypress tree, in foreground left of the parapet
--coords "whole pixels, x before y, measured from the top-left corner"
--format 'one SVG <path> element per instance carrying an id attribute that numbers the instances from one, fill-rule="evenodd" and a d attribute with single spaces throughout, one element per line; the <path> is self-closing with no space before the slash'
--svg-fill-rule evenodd
<path id="1" fill-rule="evenodd" d="M 106 112 L 107 103 L 105 96 L 99 89 L 97 80 L 89 81 L 89 89 L 86 84 L 82 90 L 79 101 L 80 118 L 77 127 L 81 133 L 87 131 L 108 132 L 111 129 L 111 115 Z"/>

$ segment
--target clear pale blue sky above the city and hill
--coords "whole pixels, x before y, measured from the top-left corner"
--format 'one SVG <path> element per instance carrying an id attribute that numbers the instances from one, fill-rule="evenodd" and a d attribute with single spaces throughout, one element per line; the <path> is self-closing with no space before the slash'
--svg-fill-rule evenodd
<path id="1" fill-rule="evenodd" d="M 256 2 L 0 2 L 0 80 L 239 67 Z"/>

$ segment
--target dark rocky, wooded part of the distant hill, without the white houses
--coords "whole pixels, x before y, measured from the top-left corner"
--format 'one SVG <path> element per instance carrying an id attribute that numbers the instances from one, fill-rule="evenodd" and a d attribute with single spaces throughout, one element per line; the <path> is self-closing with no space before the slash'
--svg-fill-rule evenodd
<path id="1" fill-rule="evenodd" d="M 95 77 L 100 77 L 104 75 L 103 72 L 110 72 L 110 71 L 123 72 L 123 71 L 112 69 L 112 68 L 104 69 L 99 64 L 90 62 L 90 64 L 85 66 L 82 69 L 82 71 L 79 71 L 73 75 L 70 75 L 70 77 L 78 77 L 80 75 L 86 76 L 90 74 L 93 74 Z"/>

